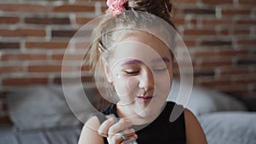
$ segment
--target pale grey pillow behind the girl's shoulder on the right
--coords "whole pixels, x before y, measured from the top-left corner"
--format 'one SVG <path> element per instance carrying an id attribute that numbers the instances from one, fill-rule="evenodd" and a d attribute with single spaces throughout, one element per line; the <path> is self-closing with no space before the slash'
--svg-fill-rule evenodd
<path id="1" fill-rule="evenodd" d="M 188 85 L 184 85 L 185 87 Z M 177 80 L 172 81 L 172 90 L 167 101 L 176 101 L 180 89 Z M 218 111 L 246 111 L 247 107 L 236 98 L 219 92 L 215 89 L 207 89 L 201 86 L 193 86 L 189 103 L 186 106 L 191 112 L 199 116 L 208 112 Z"/>

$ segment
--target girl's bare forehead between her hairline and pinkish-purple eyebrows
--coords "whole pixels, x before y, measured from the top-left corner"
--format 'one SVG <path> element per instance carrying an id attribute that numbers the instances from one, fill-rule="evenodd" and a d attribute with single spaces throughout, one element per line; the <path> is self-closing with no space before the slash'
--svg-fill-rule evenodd
<path id="1" fill-rule="evenodd" d="M 151 61 L 166 57 L 171 59 L 170 49 L 158 37 L 139 32 L 124 37 L 113 46 L 113 60 L 137 59 Z"/>

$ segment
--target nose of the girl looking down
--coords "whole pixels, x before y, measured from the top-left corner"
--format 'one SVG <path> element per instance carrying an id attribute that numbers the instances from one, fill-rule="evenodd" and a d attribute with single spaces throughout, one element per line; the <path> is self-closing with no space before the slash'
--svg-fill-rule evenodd
<path id="1" fill-rule="evenodd" d="M 154 89 L 154 74 L 149 68 L 146 68 L 140 77 L 139 88 L 145 91 Z"/>

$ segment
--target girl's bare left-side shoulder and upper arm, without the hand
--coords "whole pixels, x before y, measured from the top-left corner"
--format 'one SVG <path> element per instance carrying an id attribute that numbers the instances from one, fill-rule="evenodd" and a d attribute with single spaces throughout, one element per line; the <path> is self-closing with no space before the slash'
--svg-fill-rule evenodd
<path id="1" fill-rule="evenodd" d="M 84 124 L 83 130 L 80 134 L 79 144 L 103 144 L 104 142 L 102 136 L 98 134 L 99 127 L 100 121 L 96 116 L 88 119 L 88 121 Z"/>

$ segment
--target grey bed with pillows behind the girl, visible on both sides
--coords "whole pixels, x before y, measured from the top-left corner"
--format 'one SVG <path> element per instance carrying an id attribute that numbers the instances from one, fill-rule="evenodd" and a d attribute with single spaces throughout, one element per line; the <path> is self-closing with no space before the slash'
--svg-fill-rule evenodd
<path id="1" fill-rule="evenodd" d="M 179 83 L 173 81 L 172 95 Z M 73 91 L 79 101 L 83 93 Z M 88 92 L 88 91 L 87 91 Z M 96 95 L 94 91 L 90 95 Z M 76 144 L 83 124 L 67 106 L 61 86 L 32 86 L 7 95 L 13 124 L 0 126 L 0 144 Z M 168 101 L 176 98 L 169 96 Z M 91 102 L 98 101 L 96 97 Z M 230 95 L 195 86 L 188 105 L 201 123 L 209 144 L 255 144 L 256 112 Z M 77 107 L 83 114 L 83 110 Z"/>

